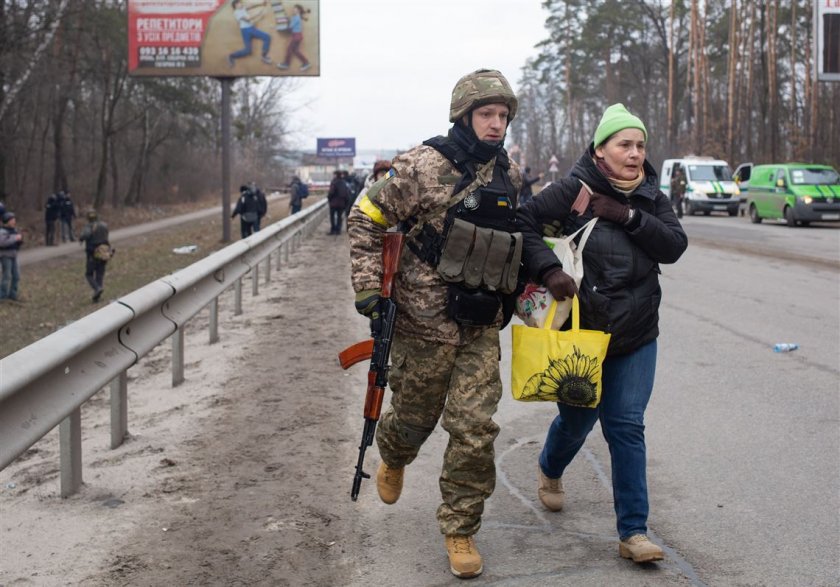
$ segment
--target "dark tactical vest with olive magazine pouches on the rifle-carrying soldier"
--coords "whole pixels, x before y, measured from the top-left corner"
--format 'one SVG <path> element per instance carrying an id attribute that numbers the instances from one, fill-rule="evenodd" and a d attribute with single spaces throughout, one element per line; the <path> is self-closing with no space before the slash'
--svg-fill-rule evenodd
<path id="1" fill-rule="evenodd" d="M 437 150 L 463 174 L 453 193 L 471 183 L 475 164 L 453 141 L 438 136 L 423 144 Z M 408 242 L 409 249 L 436 268 L 447 283 L 503 294 L 516 290 L 522 234 L 516 223 L 517 191 L 506 164 L 506 159 L 497 160 L 487 185 L 465 194 L 447 209 L 442 234 L 424 223 Z"/>

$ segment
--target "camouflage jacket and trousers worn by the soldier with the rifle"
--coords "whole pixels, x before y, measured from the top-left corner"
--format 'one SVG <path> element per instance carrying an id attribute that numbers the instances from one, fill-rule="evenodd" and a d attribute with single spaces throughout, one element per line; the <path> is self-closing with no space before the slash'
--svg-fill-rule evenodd
<path id="1" fill-rule="evenodd" d="M 445 205 L 461 178 L 458 169 L 429 146 L 396 157 L 392 171 L 371 186 L 347 221 L 357 292 L 381 286 L 382 235 L 387 227 L 423 217 L 443 231 Z M 514 162 L 508 175 L 518 192 L 522 180 Z M 446 282 L 408 247 L 400 259 L 394 299 L 398 315 L 391 349 L 393 394 L 376 432 L 380 456 L 390 468 L 410 464 L 443 416 L 449 444 L 440 476 L 443 503 L 438 522 L 443 534 L 471 536 L 481 526 L 484 500 L 496 482 L 493 442 L 499 427 L 492 417 L 502 394 L 501 311 L 490 326 L 465 327 L 451 320 Z"/>

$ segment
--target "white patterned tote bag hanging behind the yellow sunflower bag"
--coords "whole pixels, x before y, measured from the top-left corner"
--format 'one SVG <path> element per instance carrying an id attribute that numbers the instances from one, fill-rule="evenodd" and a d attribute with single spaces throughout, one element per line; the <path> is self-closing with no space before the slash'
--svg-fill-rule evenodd
<path id="1" fill-rule="evenodd" d="M 575 285 L 578 287 L 583 280 L 583 247 L 586 246 L 586 241 L 592 234 L 592 229 L 595 228 L 597 221 L 598 218 L 593 218 L 568 236 L 560 238 L 543 237 L 546 244 L 557 255 L 557 260 L 563 265 L 563 271 L 575 280 Z M 574 239 L 581 233 L 583 234 L 580 241 L 575 244 Z M 528 282 L 525 291 L 516 299 L 516 315 L 528 326 L 542 328 L 553 300 L 551 292 L 544 285 Z M 571 311 L 571 298 L 557 302 L 557 311 L 551 322 L 551 328 L 560 330 L 560 327 L 569 318 Z"/>

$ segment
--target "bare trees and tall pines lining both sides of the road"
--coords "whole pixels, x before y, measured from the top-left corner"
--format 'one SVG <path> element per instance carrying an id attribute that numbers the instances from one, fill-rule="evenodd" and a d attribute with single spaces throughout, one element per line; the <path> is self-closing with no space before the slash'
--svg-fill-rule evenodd
<path id="1" fill-rule="evenodd" d="M 840 84 L 814 79 L 810 0 L 545 0 L 508 145 L 565 172 L 623 102 L 660 159 L 840 163 Z M 125 0 L 0 0 L 0 200 L 125 209 L 206 199 L 221 168 L 220 86 L 131 78 Z M 239 80 L 233 177 L 285 182 L 294 81 Z M 654 158 L 654 164 L 658 161 Z"/>

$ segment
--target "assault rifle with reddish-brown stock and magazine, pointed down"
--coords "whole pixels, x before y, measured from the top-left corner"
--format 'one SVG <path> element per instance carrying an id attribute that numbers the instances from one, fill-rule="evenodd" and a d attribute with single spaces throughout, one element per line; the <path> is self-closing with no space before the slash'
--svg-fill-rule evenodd
<path id="1" fill-rule="evenodd" d="M 379 421 L 379 413 L 382 411 L 385 387 L 388 385 L 388 358 L 391 355 L 391 341 L 394 338 L 394 323 L 397 318 L 397 304 L 392 299 L 392 290 L 404 242 L 405 235 L 401 232 L 385 233 L 385 239 L 382 243 L 383 271 L 379 302 L 380 325 L 376 331 L 371 332 L 373 338 L 357 342 L 338 354 L 342 369 L 348 369 L 360 361 L 370 359 L 367 395 L 365 396 L 365 427 L 362 432 L 362 443 L 359 445 L 356 474 L 353 475 L 353 489 L 350 491 L 350 499 L 353 501 L 356 501 L 356 498 L 359 497 L 362 479 L 370 479 L 370 475 L 362 470 L 362 466 L 365 462 L 365 451 L 367 447 L 373 444 L 376 423 Z"/>

